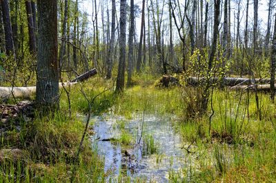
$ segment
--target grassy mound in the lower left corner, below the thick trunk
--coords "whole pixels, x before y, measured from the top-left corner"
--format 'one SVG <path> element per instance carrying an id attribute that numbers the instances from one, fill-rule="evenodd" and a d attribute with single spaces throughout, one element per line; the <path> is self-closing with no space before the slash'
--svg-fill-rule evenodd
<path id="1" fill-rule="evenodd" d="M 8 158 L 0 153 L 0 182 L 70 182 L 84 126 L 61 113 L 54 116 L 39 117 L 22 126 L 16 134 L 17 142 L 10 144 L 10 137 L 2 137 L 0 152 L 13 148 L 20 151 L 18 155 L 7 153 Z M 75 182 L 103 182 L 103 164 L 90 148 L 88 137 L 76 166 Z"/>

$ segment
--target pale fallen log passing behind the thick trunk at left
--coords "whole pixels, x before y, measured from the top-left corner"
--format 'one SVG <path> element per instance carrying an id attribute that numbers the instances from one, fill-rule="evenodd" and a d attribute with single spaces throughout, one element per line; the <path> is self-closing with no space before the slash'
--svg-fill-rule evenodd
<path id="1" fill-rule="evenodd" d="M 86 81 L 90 77 L 97 74 L 97 70 L 93 68 L 88 72 L 84 73 L 83 75 L 79 75 L 75 79 L 72 79 L 66 83 L 59 83 L 59 88 L 63 86 L 72 86 L 77 84 L 77 82 Z M 29 98 L 30 96 L 36 93 L 37 87 L 36 86 L 28 86 L 28 87 L 0 87 L 0 98 L 9 98 L 9 97 L 22 97 L 22 98 Z"/>

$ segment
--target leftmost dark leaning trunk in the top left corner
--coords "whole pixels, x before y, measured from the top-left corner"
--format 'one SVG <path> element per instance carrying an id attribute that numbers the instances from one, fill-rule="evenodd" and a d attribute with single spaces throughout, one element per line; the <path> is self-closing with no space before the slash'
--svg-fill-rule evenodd
<path id="1" fill-rule="evenodd" d="M 2 6 L 2 15 L 3 15 L 3 24 L 5 30 L 5 42 L 6 42 L 6 53 L 7 55 L 14 55 L 14 42 L 12 37 L 12 26 L 10 24 L 10 8 L 8 5 L 8 0 L 1 1 Z"/>

